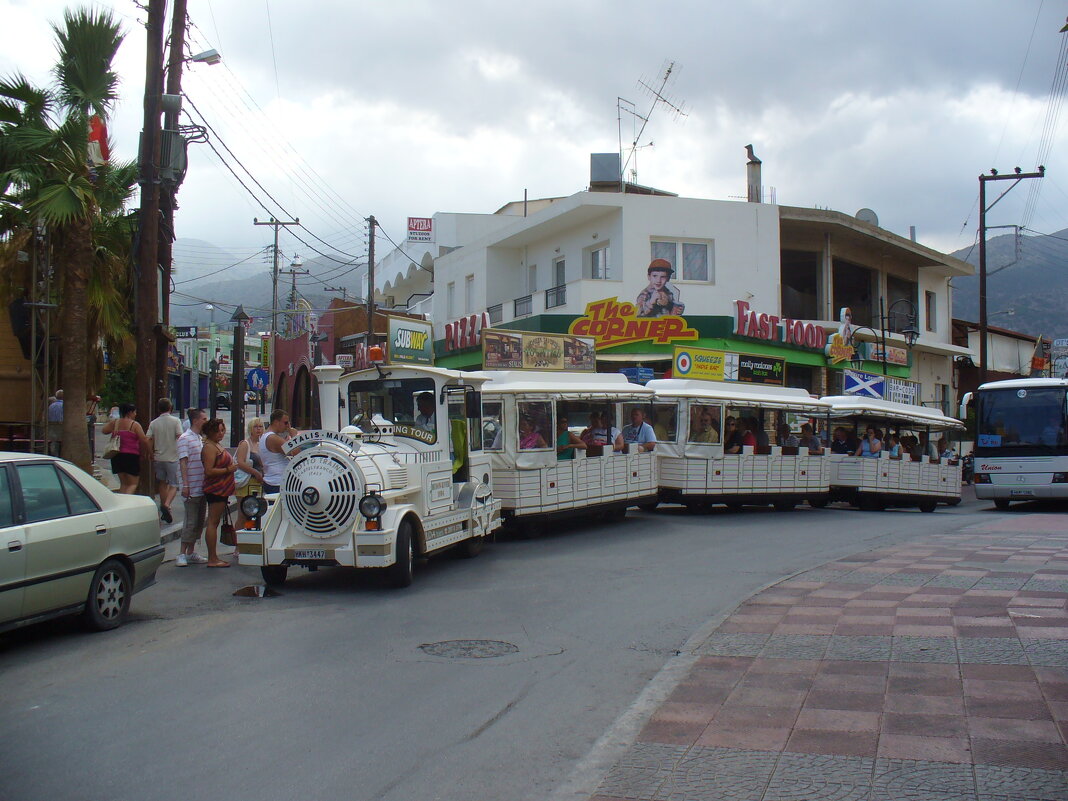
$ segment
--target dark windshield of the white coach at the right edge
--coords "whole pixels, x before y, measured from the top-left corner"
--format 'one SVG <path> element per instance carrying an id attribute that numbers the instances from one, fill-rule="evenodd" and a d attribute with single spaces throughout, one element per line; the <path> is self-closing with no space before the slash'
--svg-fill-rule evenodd
<path id="1" fill-rule="evenodd" d="M 976 419 L 976 454 L 1068 453 L 1065 394 L 1062 387 L 981 391 Z"/>

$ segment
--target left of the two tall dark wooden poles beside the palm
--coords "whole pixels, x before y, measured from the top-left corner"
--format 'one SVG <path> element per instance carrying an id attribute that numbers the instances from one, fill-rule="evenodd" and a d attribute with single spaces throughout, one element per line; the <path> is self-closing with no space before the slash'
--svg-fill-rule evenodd
<path id="1" fill-rule="evenodd" d="M 144 124 L 141 131 L 141 213 L 137 250 L 136 343 L 134 402 L 142 419 L 150 420 L 159 392 L 157 343 L 159 335 L 159 150 L 160 104 L 163 79 L 164 0 L 148 0 L 147 48 L 144 79 Z M 70 398 L 81 403 L 81 398 Z M 141 475 L 141 488 L 148 487 L 148 464 Z"/>

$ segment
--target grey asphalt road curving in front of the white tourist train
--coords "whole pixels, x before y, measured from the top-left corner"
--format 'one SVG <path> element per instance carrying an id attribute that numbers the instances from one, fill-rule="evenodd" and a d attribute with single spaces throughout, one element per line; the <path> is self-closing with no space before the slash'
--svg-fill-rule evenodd
<path id="1" fill-rule="evenodd" d="M 0 798 L 544 799 L 710 618 L 1000 514 L 632 512 L 434 560 L 399 592 L 320 571 L 240 599 L 255 570 L 167 564 L 124 629 L 0 637 Z M 468 639 L 516 650 L 420 648 Z"/>

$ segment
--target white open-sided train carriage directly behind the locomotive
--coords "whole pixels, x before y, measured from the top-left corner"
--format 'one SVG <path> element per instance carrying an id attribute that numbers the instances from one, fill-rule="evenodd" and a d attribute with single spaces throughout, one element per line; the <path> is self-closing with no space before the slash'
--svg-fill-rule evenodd
<path id="1" fill-rule="evenodd" d="M 550 518 L 655 504 L 651 449 L 622 442 L 653 391 L 618 373 L 482 371 L 483 443 L 504 519 L 532 533 Z M 584 435 L 584 438 L 583 438 Z"/>

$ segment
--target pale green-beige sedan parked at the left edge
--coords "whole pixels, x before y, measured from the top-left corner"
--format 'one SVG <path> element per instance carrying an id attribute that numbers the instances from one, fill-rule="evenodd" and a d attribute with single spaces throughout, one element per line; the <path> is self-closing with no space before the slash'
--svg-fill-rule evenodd
<path id="1" fill-rule="evenodd" d="M 159 513 L 68 461 L 0 452 L 0 631 L 80 614 L 121 626 L 163 561 Z"/>

